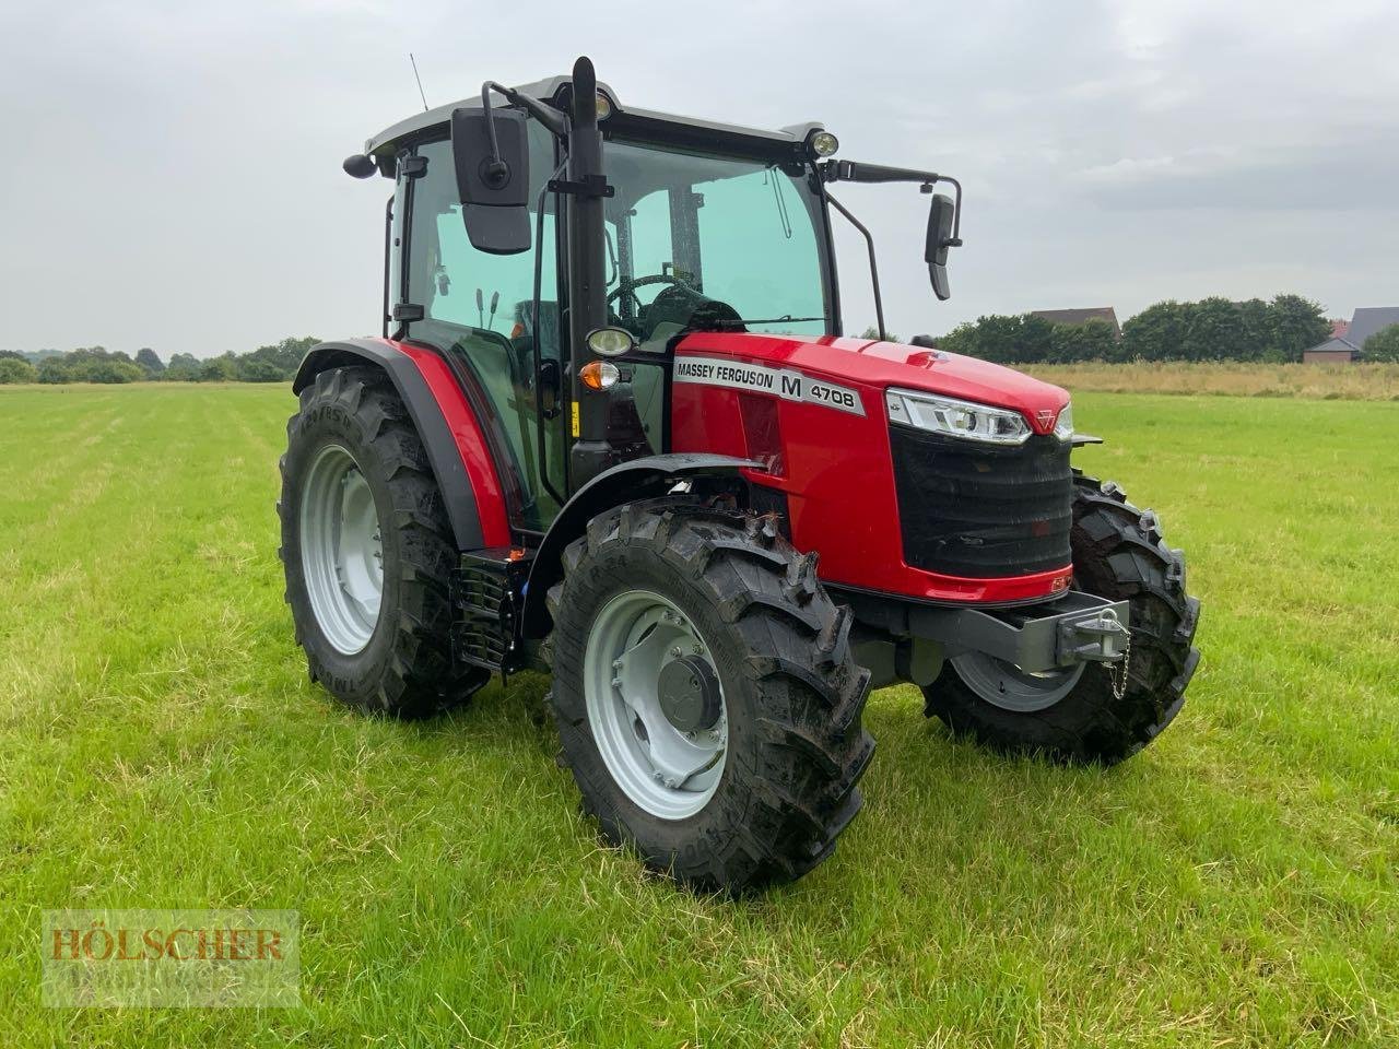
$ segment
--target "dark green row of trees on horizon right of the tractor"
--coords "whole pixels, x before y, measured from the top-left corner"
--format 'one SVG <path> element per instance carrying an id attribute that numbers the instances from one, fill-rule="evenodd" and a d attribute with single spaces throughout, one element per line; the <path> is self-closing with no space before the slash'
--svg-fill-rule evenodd
<path id="1" fill-rule="evenodd" d="M 1118 337 L 1105 320 L 1056 324 L 1030 313 L 990 315 L 960 324 L 937 348 L 999 364 L 1073 364 L 1077 361 L 1301 361 L 1302 351 L 1330 337 L 1321 305 L 1301 295 L 1272 301 L 1157 302 L 1122 326 Z M 1365 344 L 1370 359 L 1385 355 L 1378 336 Z M 1371 347 L 1371 343 L 1375 343 Z"/>

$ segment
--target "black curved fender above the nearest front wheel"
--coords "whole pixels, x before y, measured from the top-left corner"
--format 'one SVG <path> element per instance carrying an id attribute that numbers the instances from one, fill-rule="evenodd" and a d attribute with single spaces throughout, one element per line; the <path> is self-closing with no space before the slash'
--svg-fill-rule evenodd
<path id="1" fill-rule="evenodd" d="M 589 520 L 624 502 L 665 495 L 686 477 L 737 477 L 744 469 L 762 470 L 764 466 L 755 459 L 677 452 L 631 459 L 603 470 L 564 504 L 534 554 L 529 582 L 525 583 L 520 636 L 543 638 L 548 634 L 551 620 L 544 599 L 548 587 L 564 576 L 564 547 L 583 534 Z"/>

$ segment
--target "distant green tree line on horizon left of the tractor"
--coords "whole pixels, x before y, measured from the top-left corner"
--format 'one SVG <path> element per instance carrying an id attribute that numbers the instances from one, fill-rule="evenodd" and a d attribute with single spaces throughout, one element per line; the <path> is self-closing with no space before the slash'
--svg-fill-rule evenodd
<path id="1" fill-rule="evenodd" d="M 150 348 L 137 350 L 132 357 L 101 345 L 67 352 L 0 350 L 0 383 L 291 382 L 301 358 L 319 341 L 316 336 L 288 337 L 246 354 L 227 352 L 203 361 L 193 354 L 175 354 L 162 361 Z"/>

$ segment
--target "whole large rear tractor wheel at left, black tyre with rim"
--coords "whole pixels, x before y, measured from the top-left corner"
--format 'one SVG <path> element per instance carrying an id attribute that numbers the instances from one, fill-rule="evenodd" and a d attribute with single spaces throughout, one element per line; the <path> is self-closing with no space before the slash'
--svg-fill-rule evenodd
<path id="1" fill-rule="evenodd" d="M 281 457 L 287 603 L 312 681 L 422 718 L 490 676 L 452 663 L 457 551 L 422 441 L 388 376 L 333 368 L 301 392 Z"/>

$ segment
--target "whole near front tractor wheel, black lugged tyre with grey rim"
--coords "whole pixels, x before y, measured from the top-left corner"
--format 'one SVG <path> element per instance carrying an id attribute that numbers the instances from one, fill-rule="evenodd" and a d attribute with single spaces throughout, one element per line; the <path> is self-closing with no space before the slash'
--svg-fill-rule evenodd
<path id="1" fill-rule="evenodd" d="M 551 701 L 603 836 L 701 891 L 792 881 L 830 856 L 874 740 L 852 617 L 816 557 L 771 518 L 672 497 L 595 518 L 564 572 Z M 691 722 L 665 708 L 681 663 L 690 687 L 705 681 Z M 677 754 L 702 771 L 672 778 Z"/>

